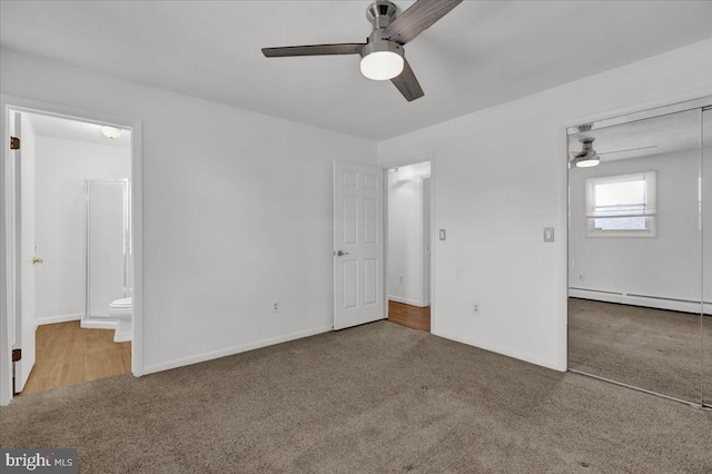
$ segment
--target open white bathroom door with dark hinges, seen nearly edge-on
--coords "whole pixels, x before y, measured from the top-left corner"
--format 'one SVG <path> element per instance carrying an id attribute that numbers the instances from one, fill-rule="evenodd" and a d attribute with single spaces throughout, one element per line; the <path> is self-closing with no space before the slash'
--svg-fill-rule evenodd
<path id="1" fill-rule="evenodd" d="M 16 312 L 16 342 L 14 348 L 22 349 L 22 358 L 17 362 L 14 373 L 14 392 L 22 392 L 32 366 L 34 365 L 34 140 L 29 134 L 27 117 L 13 112 L 14 134 L 20 138 L 21 148 L 16 150 L 16 188 L 17 209 L 19 213 L 17 223 L 20 224 L 18 237 L 18 302 Z M 22 134 L 22 129 L 28 129 Z"/>

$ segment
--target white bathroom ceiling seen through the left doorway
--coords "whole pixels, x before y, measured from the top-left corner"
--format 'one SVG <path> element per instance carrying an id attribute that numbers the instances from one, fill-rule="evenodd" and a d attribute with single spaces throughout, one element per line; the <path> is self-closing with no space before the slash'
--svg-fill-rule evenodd
<path id="1" fill-rule="evenodd" d="M 131 146 L 130 130 L 121 130 L 121 136 L 118 138 L 107 138 L 101 132 L 101 125 L 39 113 L 27 113 L 27 117 L 34 128 L 34 134 L 40 137 L 63 138 L 120 148 Z"/>

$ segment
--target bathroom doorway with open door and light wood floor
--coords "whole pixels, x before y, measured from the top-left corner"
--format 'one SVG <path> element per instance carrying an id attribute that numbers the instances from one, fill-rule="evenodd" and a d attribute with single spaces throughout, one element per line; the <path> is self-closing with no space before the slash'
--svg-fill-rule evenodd
<path id="1" fill-rule="evenodd" d="M 0 369 L 10 368 L 2 381 L 11 383 L 0 404 L 140 375 L 140 122 L 3 105 L 3 130 L 17 140 L 3 167 L 2 244 L 12 258 L 2 286 L 12 310 L 2 314 L 11 359 Z"/>

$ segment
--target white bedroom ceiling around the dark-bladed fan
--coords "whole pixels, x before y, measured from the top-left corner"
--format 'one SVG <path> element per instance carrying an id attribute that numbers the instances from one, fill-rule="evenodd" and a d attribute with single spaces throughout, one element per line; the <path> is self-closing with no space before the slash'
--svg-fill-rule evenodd
<path id="1" fill-rule="evenodd" d="M 712 36 L 710 1 L 465 1 L 406 46 L 425 90 L 409 103 L 358 56 L 260 52 L 364 41 L 368 3 L 2 1 L 0 45 L 382 140 Z"/>

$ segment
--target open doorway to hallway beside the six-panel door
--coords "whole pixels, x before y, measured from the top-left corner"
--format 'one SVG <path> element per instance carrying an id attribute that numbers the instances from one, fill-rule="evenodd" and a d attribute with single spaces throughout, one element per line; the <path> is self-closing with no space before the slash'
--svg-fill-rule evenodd
<path id="1" fill-rule="evenodd" d="M 388 170 L 388 320 L 431 332 L 431 161 Z"/>

